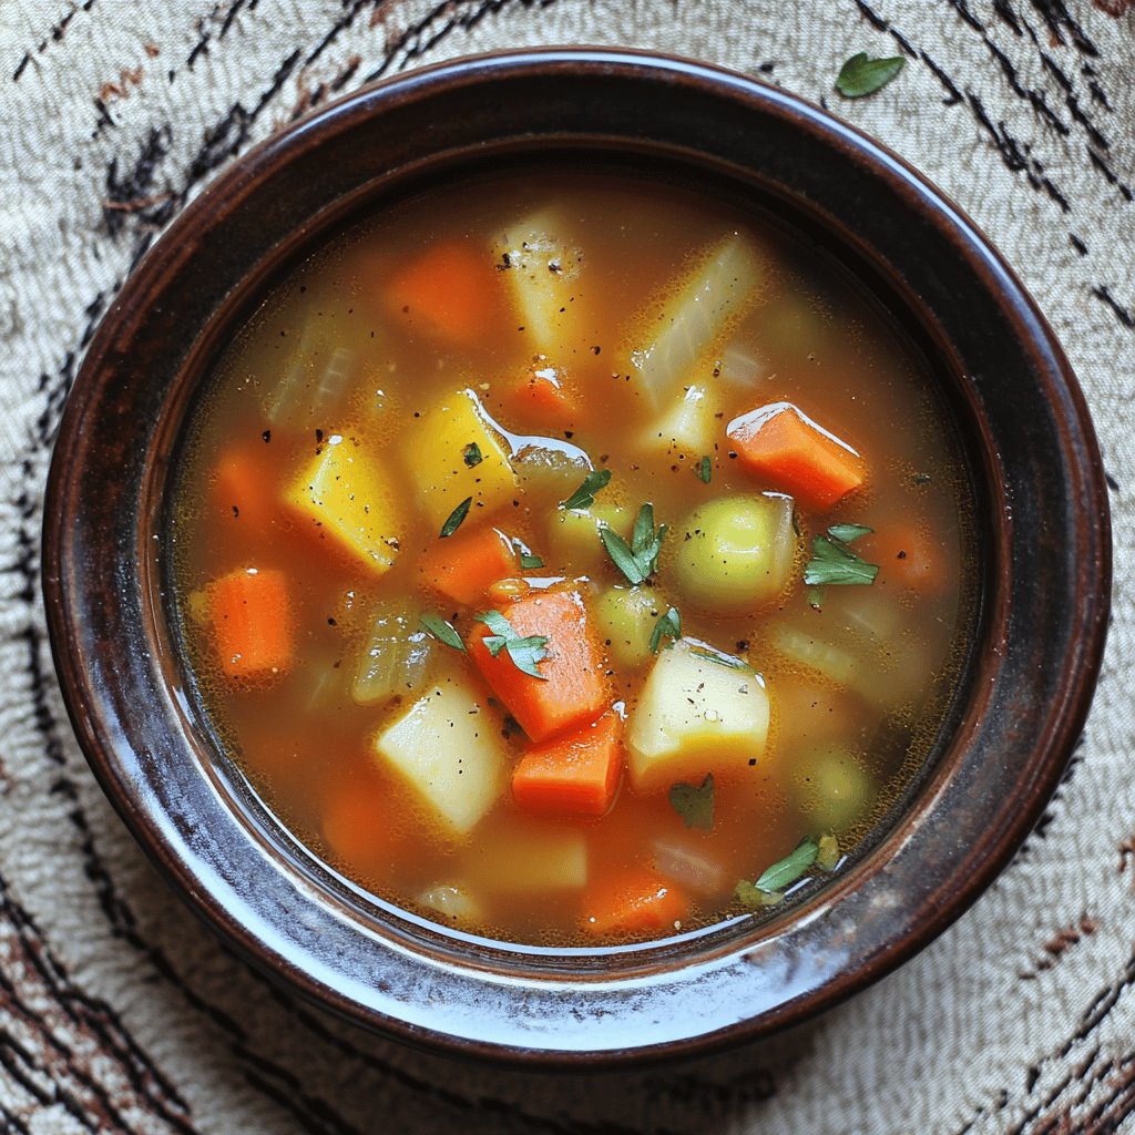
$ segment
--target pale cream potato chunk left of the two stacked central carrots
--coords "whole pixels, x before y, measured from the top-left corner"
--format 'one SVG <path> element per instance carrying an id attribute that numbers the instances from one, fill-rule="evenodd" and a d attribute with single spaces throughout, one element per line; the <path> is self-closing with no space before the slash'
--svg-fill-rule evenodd
<path id="1" fill-rule="evenodd" d="M 501 722 L 463 678 L 419 698 L 375 739 L 394 768 L 452 836 L 464 836 L 505 790 Z"/>

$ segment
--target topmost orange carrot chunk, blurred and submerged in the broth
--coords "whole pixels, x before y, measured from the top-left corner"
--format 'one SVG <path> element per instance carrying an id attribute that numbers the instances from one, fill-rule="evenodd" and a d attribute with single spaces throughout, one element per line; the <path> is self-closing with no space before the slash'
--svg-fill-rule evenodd
<path id="1" fill-rule="evenodd" d="M 423 320 L 455 343 L 474 343 L 493 313 L 496 270 L 484 252 L 451 241 L 411 264 L 386 294 L 392 314 Z"/>

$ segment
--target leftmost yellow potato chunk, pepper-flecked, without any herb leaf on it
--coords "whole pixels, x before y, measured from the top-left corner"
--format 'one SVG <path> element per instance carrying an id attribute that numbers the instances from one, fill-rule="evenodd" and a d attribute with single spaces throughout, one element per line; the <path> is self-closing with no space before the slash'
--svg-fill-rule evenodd
<path id="1" fill-rule="evenodd" d="M 403 532 L 393 481 L 353 438 L 331 434 L 287 490 L 286 501 L 376 575 L 397 555 Z"/>

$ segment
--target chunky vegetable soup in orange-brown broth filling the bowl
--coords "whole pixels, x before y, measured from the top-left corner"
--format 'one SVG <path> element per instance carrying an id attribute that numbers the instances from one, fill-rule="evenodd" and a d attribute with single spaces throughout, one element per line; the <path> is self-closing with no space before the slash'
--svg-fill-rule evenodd
<path id="1" fill-rule="evenodd" d="M 343 232 L 194 411 L 218 738 L 369 892 L 619 944 L 775 910 L 926 759 L 974 617 L 925 361 L 762 213 L 602 171 Z"/>

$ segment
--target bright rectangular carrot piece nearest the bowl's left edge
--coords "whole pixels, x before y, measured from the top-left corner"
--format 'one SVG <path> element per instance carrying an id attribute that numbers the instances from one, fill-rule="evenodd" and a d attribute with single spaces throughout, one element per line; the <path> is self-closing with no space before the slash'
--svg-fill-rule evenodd
<path id="1" fill-rule="evenodd" d="M 228 678 L 268 678 L 292 664 L 292 602 L 280 571 L 238 568 L 209 585 L 209 614 Z"/>

